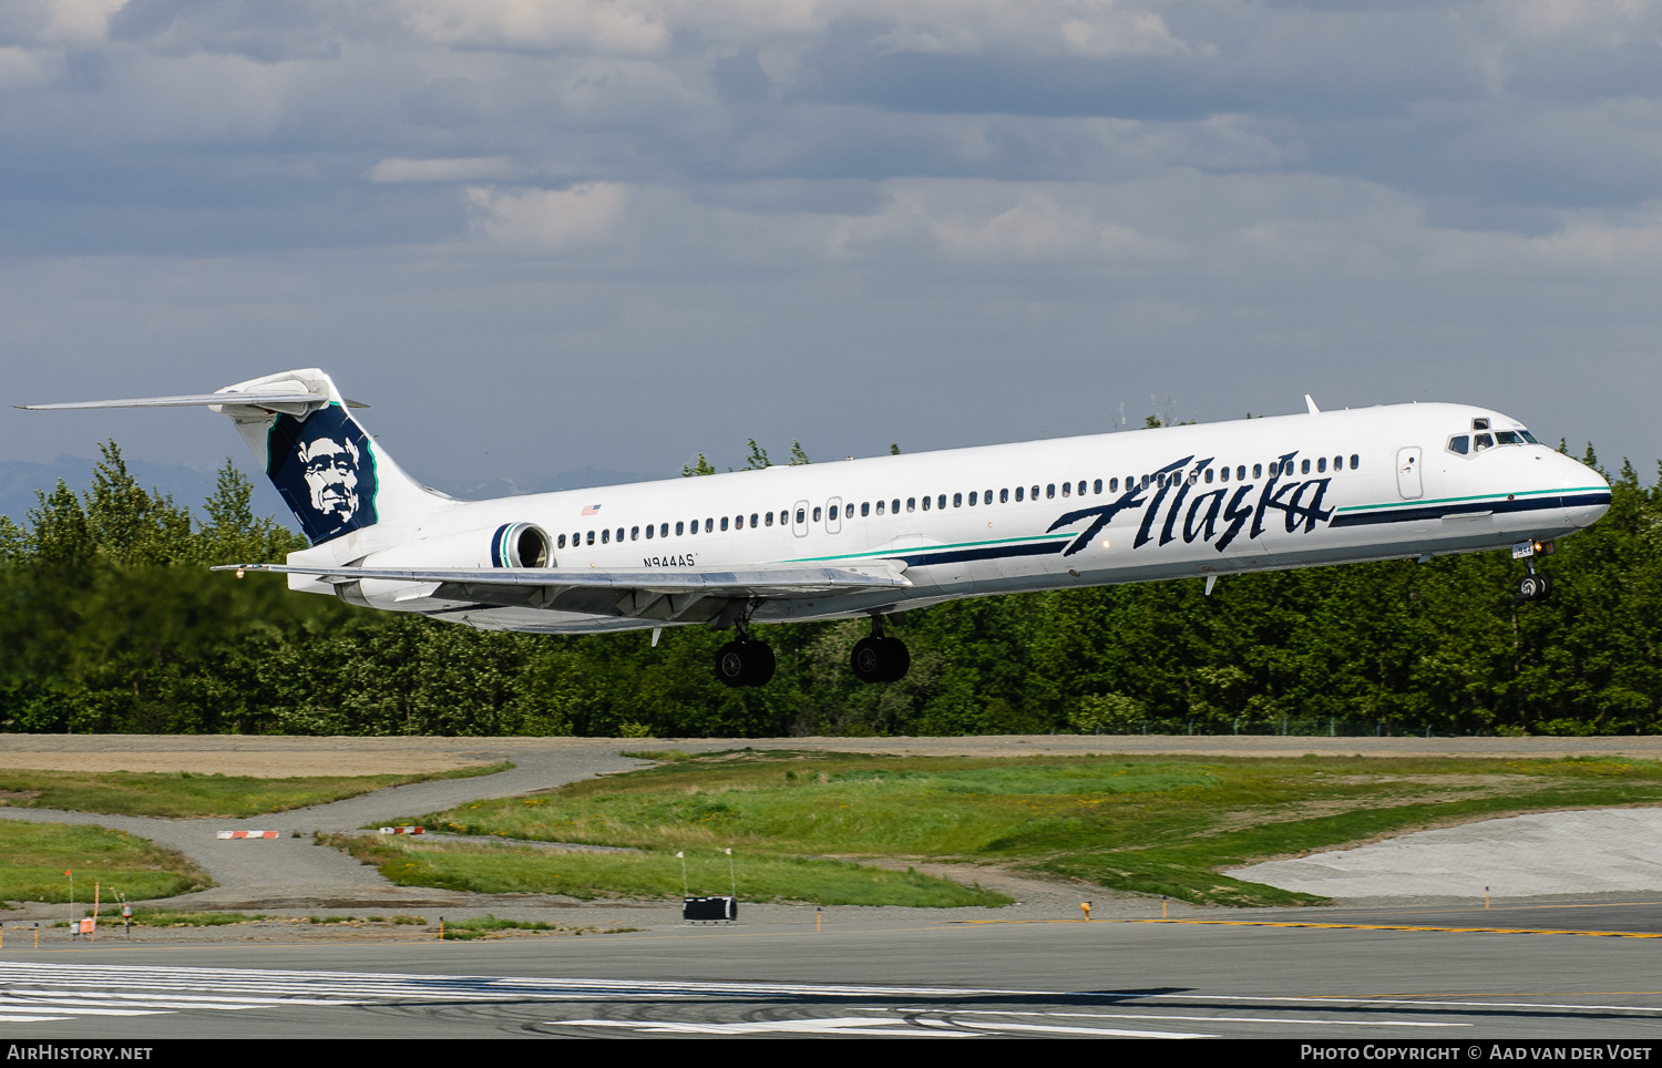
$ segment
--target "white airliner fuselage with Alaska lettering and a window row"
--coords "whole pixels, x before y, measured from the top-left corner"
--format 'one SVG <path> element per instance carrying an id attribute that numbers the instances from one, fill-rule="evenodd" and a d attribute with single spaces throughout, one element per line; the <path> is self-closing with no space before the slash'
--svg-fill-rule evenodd
<path id="1" fill-rule="evenodd" d="M 548 566 L 562 570 L 904 566 L 904 590 L 770 600 L 753 616 L 803 621 L 962 596 L 1469 553 L 1562 536 L 1604 515 L 1604 478 L 1546 445 L 1453 452 L 1453 437 L 1476 438 L 1474 420 L 1489 420 L 1491 435 L 1522 434 L 1499 412 L 1414 404 L 771 467 L 455 502 L 289 563 L 444 565 L 424 558 L 424 543 L 535 523 L 553 540 Z M 311 576 L 291 585 L 332 591 Z M 665 626 L 444 601 L 435 590 L 377 581 L 362 593 L 377 608 L 489 630 Z"/>

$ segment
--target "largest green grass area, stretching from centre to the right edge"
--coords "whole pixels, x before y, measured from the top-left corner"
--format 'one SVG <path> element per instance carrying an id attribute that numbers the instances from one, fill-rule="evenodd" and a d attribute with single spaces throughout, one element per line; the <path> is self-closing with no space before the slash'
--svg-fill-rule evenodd
<path id="1" fill-rule="evenodd" d="M 1662 804 L 1662 764 L 1624 759 L 663 756 L 412 822 L 660 855 L 731 845 L 997 864 L 1190 902 L 1288 905 L 1321 899 L 1220 869 L 1471 819 Z M 593 892 L 610 877 L 597 865 Z M 411 882 L 444 885 L 422 879 L 414 865 Z"/>

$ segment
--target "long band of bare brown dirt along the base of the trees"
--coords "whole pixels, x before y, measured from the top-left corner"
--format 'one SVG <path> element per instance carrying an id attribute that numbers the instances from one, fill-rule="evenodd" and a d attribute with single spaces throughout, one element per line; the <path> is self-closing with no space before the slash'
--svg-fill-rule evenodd
<path id="1" fill-rule="evenodd" d="M 32 771 L 189 771 L 224 776 L 422 774 L 512 761 L 515 754 L 680 749 L 828 749 L 894 756 L 1629 756 L 1662 759 L 1662 737 L 1275 737 L 1157 734 L 972 737 L 264 737 L 241 734 L 0 734 L 0 767 Z"/>

